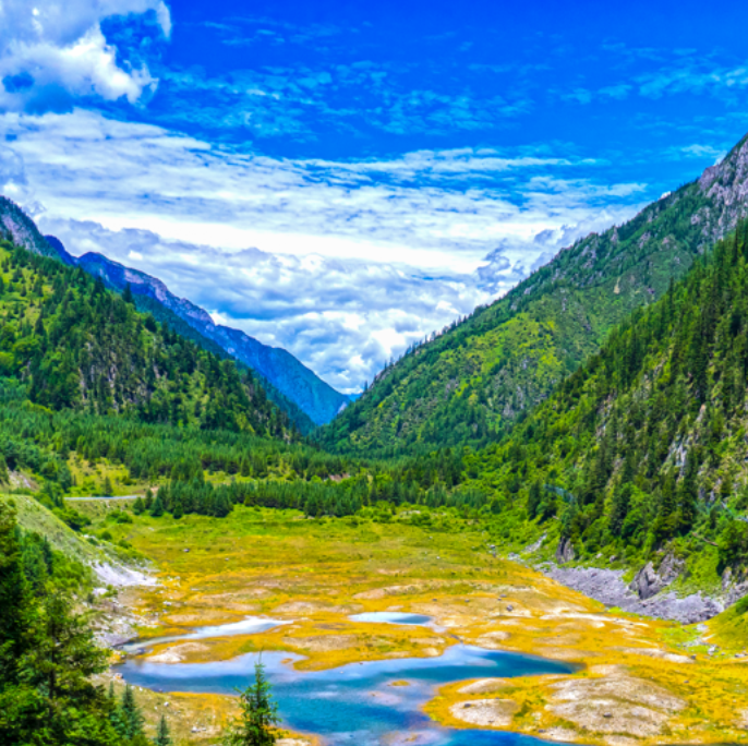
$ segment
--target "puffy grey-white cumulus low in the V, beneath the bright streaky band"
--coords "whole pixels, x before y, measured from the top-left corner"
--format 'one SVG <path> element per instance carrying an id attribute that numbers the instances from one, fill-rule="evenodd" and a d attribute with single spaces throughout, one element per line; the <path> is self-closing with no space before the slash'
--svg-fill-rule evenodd
<path id="1" fill-rule="evenodd" d="M 430 278 L 419 267 L 373 261 L 224 251 L 48 216 L 40 225 L 75 255 L 96 251 L 159 277 L 216 323 L 288 349 L 346 393 L 360 390 L 390 357 L 492 294 L 471 274 Z M 507 277 L 504 290 L 514 281 Z"/>

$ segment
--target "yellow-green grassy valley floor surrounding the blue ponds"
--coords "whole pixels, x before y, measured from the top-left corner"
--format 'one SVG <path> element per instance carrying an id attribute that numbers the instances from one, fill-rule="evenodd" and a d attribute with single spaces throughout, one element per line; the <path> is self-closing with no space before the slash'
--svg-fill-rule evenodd
<path id="1" fill-rule="evenodd" d="M 95 526 L 113 509 L 93 501 L 76 507 Z M 426 706 L 444 724 L 611 746 L 748 739 L 748 659 L 736 658 L 738 650 L 710 654 L 702 627 L 606 610 L 540 573 L 494 558 L 480 525 L 453 517 L 420 528 L 405 516 L 391 522 L 306 519 L 239 506 L 226 519 L 135 517 L 108 526 L 158 568 L 159 586 L 120 593 L 120 603 L 143 619 L 143 637 L 248 615 L 291 622 L 251 636 L 157 645 L 152 660 L 283 650 L 304 657 L 297 667 L 316 670 L 436 657 L 462 641 L 580 669 L 445 686 Z M 436 626 L 349 618 L 372 611 L 426 614 Z M 212 743 L 233 708 L 232 698 L 217 695 L 141 696 L 154 719 L 169 701 L 178 735 L 194 743 Z"/>

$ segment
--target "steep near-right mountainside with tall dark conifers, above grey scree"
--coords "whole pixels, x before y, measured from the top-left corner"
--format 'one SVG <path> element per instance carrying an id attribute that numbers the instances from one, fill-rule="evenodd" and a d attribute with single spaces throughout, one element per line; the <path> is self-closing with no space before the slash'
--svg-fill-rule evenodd
<path id="1" fill-rule="evenodd" d="M 498 541 L 543 536 L 562 562 L 651 563 L 635 578 L 643 598 L 679 578 L 732 602 L 748 592 L 747 381 L 744 221 L 466 459 L 461 490 L 493 496 Z"/>

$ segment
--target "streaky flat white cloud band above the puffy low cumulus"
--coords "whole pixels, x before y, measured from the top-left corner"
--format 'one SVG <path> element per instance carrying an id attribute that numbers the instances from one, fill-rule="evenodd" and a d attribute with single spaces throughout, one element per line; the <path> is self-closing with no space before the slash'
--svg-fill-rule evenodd
<path id="1" fill-rule="evenodd" d="M 601 214 L 623 221 L 642 189 L 535 176 L 568 172 L 577 164 L 566 158 L 504 157 L 490 171 L 485 153 L 421 152 L 378 165 L 245 155 L 80 110 L 10 113 L 2 134 L 14 139 L 36 198 L 57 215 L 224 249 L 460 273 L 502 242 L 527 248 L 540 231 L 598 222 Z M 446 167 L 449 179 L 434 176 Z M 476 170 L 490 178 L 478 181 Z"/>

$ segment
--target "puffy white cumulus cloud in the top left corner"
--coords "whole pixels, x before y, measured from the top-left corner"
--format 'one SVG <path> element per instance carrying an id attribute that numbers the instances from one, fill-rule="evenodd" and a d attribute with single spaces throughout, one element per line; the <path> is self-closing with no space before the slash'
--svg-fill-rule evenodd
<path id="1" fill-rule="evenodd" d="M 171 33 L 162 0 L 4 0 L 0 2 L 0 111 L 64 111 L 77 98 L 135 103 L 156 85 L 147 67 L 118 58 L 101 22 L 152 12 Z"/>

